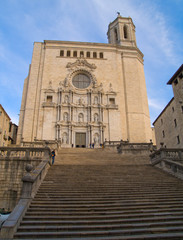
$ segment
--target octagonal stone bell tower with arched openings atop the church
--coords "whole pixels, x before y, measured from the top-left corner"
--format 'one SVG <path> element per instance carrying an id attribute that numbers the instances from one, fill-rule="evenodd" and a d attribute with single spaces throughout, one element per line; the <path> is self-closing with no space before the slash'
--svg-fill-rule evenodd
<path id="1" fill-rule="evenodd" d="M 118 13 L 117 18 L 108 26 L 108 42 L 120 46 L 137 46 L 135 25 L 130 17 L 125 18 Z"/>

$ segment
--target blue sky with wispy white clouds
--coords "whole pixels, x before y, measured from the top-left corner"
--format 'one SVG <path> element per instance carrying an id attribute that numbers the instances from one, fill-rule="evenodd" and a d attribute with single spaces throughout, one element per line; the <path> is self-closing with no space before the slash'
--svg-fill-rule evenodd
<path id="1" fill-rule="evenodd" d="M 33 43 L 107 43 L 117 12 L 136 26 L 153 123 L 173 97 L 166 83 L 183 63 L 183 0 L 1 0 L 0 104 L 13 123 L 18 124 Z"/>

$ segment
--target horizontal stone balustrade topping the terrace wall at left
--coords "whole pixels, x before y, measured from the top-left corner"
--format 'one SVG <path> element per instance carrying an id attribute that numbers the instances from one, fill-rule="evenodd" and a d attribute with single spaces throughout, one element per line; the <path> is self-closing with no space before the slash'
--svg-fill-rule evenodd
<path id="1" fill-rule="evenodd" d="M 48 159 L 50 158 L 50 149 L 34 147 L 0 147 L 1 159 Z"/>

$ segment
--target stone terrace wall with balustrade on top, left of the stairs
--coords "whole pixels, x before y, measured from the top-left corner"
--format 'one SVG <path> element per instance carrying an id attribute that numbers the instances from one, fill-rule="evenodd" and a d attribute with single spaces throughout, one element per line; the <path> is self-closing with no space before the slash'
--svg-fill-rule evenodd
<path id="1" fill-rule="evenodd" d="M 50 160 L 48 147 L 0 147 L 0 208 L 12 211 L 20 199 L 26 165 L 35 169 L 42 160 Z"/>

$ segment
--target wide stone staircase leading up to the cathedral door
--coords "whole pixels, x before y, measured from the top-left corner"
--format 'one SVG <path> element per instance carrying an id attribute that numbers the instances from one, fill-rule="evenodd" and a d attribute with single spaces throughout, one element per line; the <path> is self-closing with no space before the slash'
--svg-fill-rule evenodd
<path id="1" fill-rule="evenodd" d="M 183 182 L 102 149 L 63 149 L 15 239 L 183 239 Z"/>

